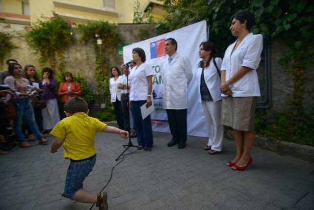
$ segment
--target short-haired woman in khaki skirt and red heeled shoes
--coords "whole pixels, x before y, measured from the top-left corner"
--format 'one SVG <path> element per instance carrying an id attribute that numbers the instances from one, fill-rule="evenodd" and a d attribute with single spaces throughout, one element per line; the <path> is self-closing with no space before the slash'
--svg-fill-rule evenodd
<path id="1" fill-rule="evenodd" d="M 221 66 L 221 119 L 223 125 L 233 128 L 236 145 L 236 156 L 227 166 L 238 171 L 252 163 L 254 112 L 257 97 L 261 96 L 256 69 L 261 61 L 262 35 L 250 33 L 254 21 L 254 15 L 249 11 L 233 16 L 229 29 L 237 39 L 227 48 Z"/>

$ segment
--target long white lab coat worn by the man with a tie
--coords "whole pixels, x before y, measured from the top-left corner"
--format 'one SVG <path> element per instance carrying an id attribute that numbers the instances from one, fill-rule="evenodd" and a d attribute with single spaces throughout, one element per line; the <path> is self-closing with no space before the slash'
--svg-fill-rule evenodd
<path id="1" fill-rule="evenodd" d="M 172 62 L 168 64 L 167 56 L 160 63 L 160 73 L 163 81 L 162 99 L 164 109 L 187 108 L 187 87 L 193 77 L 190 60 L 174 53 Z"/>

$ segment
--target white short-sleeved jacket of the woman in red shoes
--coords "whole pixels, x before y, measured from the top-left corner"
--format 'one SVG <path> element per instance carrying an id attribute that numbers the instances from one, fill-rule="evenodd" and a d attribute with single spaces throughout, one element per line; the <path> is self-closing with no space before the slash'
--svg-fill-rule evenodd
<path id="1" fill-rule="evenodd" d="M 254 35 L 253 33 L 249 33 L 244 37 L 234 53 L 232 53 L 232 50 L 235 43 L 229 45 L 227 48 L 221 65 L 221 71 L 226 71 L 226 81 L 228 81 L 241 66 L 252 69 L 241 79 L 229 85 L 233 97 L 261 96 L 256 69 L 259 67 L 261 61 L 262 41 L 263 37 L 261 34 Z M 221 96 L 226 97 L 227 95 L 221 94 Z"/>

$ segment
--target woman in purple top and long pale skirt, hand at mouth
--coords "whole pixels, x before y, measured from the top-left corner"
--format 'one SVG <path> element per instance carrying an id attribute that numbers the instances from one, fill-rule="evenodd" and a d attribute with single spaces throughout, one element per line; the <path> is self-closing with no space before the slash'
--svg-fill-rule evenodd
<path id="1" fill-rule="evenodd" d="M 52 77 L 52 69 L 46 67 L 43 69 L 43 78 L 40 79 L 43 85 L 43 99 L 46 100 L 47 106 L 42 109 L 43 129 L 45 131 L 52 130 L 60 121 L 58 103 L 55 95 L 55 85 L 57 81 Z"/>

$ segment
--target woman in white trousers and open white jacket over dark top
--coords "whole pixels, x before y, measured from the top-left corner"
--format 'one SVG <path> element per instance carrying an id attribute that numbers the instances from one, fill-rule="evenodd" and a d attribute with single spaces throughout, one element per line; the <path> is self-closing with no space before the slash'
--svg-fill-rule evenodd
<path id="1" fill-rule="evenodd" d="M 224 127 L 221 124 L 221 93 L 219 72 L 222 59 L 213 57 L 215 46 L 212 42 L 202 42 L 199 56 L 203 60 L 196 70 L 199 102 L 202 103 L 208 129 L 208 143 L 204 147 L 210 155 L 222 150 Z"/>

